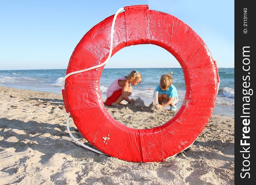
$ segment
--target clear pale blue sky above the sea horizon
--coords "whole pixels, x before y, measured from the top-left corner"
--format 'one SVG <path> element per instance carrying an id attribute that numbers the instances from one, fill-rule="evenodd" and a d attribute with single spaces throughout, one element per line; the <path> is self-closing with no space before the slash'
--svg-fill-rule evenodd
<path id="1" fill-rule="evenodd" d="M 66 69 L 94 25 L 124 6 L 148 4 L 189 25 L 206 43 L 219 68 L 234 67 L 234 1 L 0 1 L 0 70 Z M 155 45 L 118 51 L 105 68 L 177 68 Z"/>

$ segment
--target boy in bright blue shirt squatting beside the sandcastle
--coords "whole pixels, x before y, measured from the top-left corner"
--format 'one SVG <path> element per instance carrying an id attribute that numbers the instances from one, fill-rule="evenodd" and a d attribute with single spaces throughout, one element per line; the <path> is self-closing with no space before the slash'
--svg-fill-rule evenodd
<path id="1" fill-rule="evenodd" d="M 157 86 L 155 91 L 158 91 L 157 108 L 163 108 L 170 105 L 170 110 L 175 111 L 177 107 L 175 104 L 178 102 L 177 89 L 172 84 L 173 78 L 170 74 L 163 74 L 160 79 L 160 85 Z"/>

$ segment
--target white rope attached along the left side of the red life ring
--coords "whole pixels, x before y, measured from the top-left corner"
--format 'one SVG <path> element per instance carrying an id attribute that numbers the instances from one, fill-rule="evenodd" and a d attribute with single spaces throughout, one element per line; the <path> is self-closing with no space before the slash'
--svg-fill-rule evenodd
<path id="1" fill-rule="evenodd" d="M 110 33 L 110 50 L 109 50 L 109 55 L 108 55 L 108 57 L 107 57 L 107 60 L 106 60 L 105 62 L 103 62 L 102 64 L 99 64 L 99 65 L 96 65 L 96 66 L 93 66 L 93 67 L 90 67 L 90 68 L 87 68 L 87 69 L 82 69 L 82 70 L 79 70 L 79 71 L 74 71 L 74 72 L 71 72 L 71 73 L 67 74 L 67 75 L 64 76 L 64 78 L 63 78 L 61 89 L 65 89 L 65 80 L 66 80 L 66 78 L 69 77 L 70 75 L 77 74 L 77 73 L 80 73 L 80 72 L 89 71 L 89 70 L 91 70 L 91 69 L 99 68 L 99 67 L 101 67 L 101 66 L 107 64 L 108 60 L 109 60 L 110 57 L 111 57 L 112 50 L 113 50 L 113 33 L 114 33 L 115 19 L 116 19 L 116 17 L 117 17 L 117 14 L 118 14 L 120 11 L 122 11 L 122 10 L 124 10 L 124 8 L 120 8 L 119 10 L 117 10 L 117 12 L 115 13 L 113 22 L 112 22 L 111 33 Z M 94 151 L 94 152 L 96 152 L 96 153 L 99 153 L 99 154 L 104 154 L 104 153 L 102 153 L 102 152 L 100 152 L 100 151 L 98 151 L 98 150 L 95 150 L 95 149 L 93 149 L 93 148 L 91 148 L 91 147 L 89 147 L 89 146 L 84 145 L 83 143 L 81 143 L 80 141 L 78 141 L 78 139 L 75 138 L 75 137 L 71 134 L 71 132 L 70 132 L 70 130 L 69 130 L 69 116 L 70 116 L 70 113 L 67 113 L 67 130 L 68 130 L 68 132 L 69 132 L 70 137 L 73 139 L 73 141 L 76 142 L 77 144 L 79 144 L 79 145 L 85 147 L 86 149 L 92 150 L 92 151 Z"/>

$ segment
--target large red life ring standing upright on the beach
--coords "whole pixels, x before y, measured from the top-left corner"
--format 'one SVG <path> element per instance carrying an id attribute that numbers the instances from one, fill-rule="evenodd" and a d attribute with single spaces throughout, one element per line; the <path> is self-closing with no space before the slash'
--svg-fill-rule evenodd
<path id="1" fill-rule="evenodd" d="M 112 55 L 136 44 L 155 44 L 172 53 L 183 68 L 183 105 L 164 125 L 128 128 L 112 118 L 103 105 L 100 67 L 66 79 L 65 107 L 84 138 L 105 154 L 133 162 L 163 161 L 189 147 L 208 123 L 220 82 L 216 62 L 204 41 L 176 17 L 149 10 L 148 5 L 124 9 L 116 19 Z M 107 59 L 113 17 L 83 36 L 71 55 L 67 74 Z"/>

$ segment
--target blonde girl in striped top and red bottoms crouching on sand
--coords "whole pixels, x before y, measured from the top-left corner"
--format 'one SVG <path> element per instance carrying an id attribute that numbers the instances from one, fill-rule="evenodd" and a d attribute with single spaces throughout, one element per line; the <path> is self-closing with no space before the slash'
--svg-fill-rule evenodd
<path id="1" fill-rule="evenodd" d="M 132 94 L 132 86 L 141 83 L 141 73 L 133 70 L 128 76 L 123 76 L 115 79 L 110 86 L 107 88 L 107 100 L 105 105 L 120 107 L 119 103 L 123 100 L 132 103 L 134 100 L 130 99 L 129 96 Z"/>

